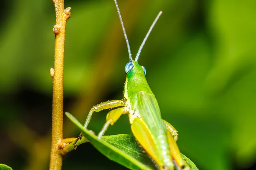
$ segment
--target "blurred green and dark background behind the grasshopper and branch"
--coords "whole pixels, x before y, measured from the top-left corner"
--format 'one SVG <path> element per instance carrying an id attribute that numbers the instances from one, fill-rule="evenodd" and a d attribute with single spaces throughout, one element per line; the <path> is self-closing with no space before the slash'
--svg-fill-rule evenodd
<path id="1" fill-rule="evenodd" d="M 118 0 L 133 57 L 140 55 L 163 119 L 201 170 L 256 167 L 256 0 Z M 113 0 L 65 0 L 64 111 L 84 122 L 93 105 L 122 99 L 128 52 Z M 0 4 L 0 163 L 49 167 L 55 11 L 51 0 Z M 89 129 L 102 128 L 108 111 Z M 131 133 L 124 115 L 106 135 Z M 79 131 L 66 117 L 64 137 Z M 125 169 L 90 144 L 63 170 Z"/>

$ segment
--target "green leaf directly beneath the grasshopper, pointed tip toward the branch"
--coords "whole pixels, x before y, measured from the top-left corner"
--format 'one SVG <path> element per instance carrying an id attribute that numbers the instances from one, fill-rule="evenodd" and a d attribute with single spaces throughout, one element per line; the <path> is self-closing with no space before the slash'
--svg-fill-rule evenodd
<path id="1" fill-rule="evenodd" d="M 97 136 L 90 133 L 81 125 L 76 118 L 70 113 L 65 113 L 66 116 L 79 127 L 84 136 L 93 144 L 108 159 L 115 161 L 132 170 L 155 170 L 156 167 L 151 161 L 147 153 L 143 153 L 142 149 L 132 135 L 120 134 L 112 136 L 102 136 L 102 139 L 97 139 Z M 195 164 L 186 156 L 182 155 L 187 161 L 192 170 L 198 170 Z"/>

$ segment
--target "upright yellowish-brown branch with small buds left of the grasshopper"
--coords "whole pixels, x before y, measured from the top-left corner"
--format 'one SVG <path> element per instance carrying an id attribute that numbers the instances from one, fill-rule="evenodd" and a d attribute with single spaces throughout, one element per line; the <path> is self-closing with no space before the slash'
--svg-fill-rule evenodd
<path id="1" fill-rule="evenodd" d="M 52 147 L 50 170 L 61 170 L 62 157 L 58 145 L 63 139 L 63 70 L 66 23 L 70 18 L 70 7 L 64 9 L 64 0 L 53 0 L 56 13 L 55 56 L 52 92 Z"/>

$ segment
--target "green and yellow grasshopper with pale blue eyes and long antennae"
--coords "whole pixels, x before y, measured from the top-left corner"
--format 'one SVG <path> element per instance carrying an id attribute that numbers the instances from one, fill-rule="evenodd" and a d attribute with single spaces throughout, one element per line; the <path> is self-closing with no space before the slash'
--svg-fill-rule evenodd
<path id="1" fill-rule="evenodd" d="M 84 128 L 88 126 L 93 112 L 119 107 L 107 114 L 107 121 L 99 132 L 98 139 L 104 135 L 109 125 L 113 125 L 122 114 L 128 113 L 131 131 L 137 139 L 137 142 L 148 153 L 160 170 L 174 170 L 175 164 L 182 170 L 190 170 L 190 167 L 181 158 L 180 150 L 176 144 L 177 130 L 161 118 L 157 99 L 149 88 L 145 78 L 146 70 L 143 66 L 138 64 L 143 45 L 162 14 L 162 11 L 160 11 L 149 28 L 135 60 L 133 60 L 121 13 L 116 0 L 114 0 L 114 2 L 122 25 L 130 59 L 130 62 L 125 66 L 127 77 L 124 87 L 124 98 L 122 100 L 111 100 L 93 106 L 84 123 Z M 81 139 L 81 137 L 82 134 L 80 134 L 74 142 L 75 148 L 76 142 Z"/>

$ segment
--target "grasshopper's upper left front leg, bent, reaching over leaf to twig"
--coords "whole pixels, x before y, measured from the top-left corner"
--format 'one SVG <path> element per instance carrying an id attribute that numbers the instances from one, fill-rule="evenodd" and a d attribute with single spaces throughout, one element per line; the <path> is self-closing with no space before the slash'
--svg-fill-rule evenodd
<path id="1" fill-rule="evenodd" d="M 91 108 L 86 120 L 85 120 L 85 123 L 84 123 L 84 128 L 87 128 L 89 122 L 90 122 L 90 119 L 93 115 L 93 112 L 99 112 L 99 111 L 102 111 L 102 110 L 105 110 L 105 109 L 111 109 L 111 108 L 116 108 L 116 107 L 119 107 L 119 106 L 124 106 L 125 105 L 125 99 L 122 99 L 122 100 L 111 100 L 111 101 L 108 101 L 108 102 L 103 102 L 99 105 L 96 105 L 96 106 L 93 106 L 93 108 Z M 80 133 L 79 137 L 75 140 L 74 142 L 74 149 L 76 149 L 77 145 L 77 141 L 79 139 L 81 139 L 83 136 L 82 133 Z"/>

